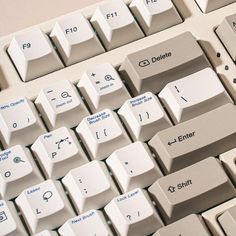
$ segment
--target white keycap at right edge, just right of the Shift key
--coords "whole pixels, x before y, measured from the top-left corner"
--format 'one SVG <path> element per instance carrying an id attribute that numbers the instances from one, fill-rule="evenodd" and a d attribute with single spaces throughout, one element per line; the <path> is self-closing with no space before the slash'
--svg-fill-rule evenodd
<path id="1" fill-rule="evenodd" d="M 219 157 L 231 180 L 236 184 L 236 148 L 220 154 Z"/>

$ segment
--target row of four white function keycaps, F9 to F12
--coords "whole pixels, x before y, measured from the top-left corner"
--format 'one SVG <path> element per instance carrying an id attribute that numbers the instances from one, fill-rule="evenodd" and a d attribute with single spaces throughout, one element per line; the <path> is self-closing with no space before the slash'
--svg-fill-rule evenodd
<path id="1" fill-rule="evenodd" d="M 36 28 L 16 35 L 7 51 L 21 79 L 30 81 L 144 37 L 132 13 L 147 35 L 182 22 L 171 0 L 133 0 L 130 9 L 122 0 L 105 1 L 91 24 L 73 13 L 59 19 L 49 37 Z"/>

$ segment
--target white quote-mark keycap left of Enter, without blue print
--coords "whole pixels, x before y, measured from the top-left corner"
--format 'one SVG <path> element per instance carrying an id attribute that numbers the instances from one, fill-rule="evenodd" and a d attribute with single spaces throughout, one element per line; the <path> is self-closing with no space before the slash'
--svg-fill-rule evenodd
<path id="1" fill-rule="evenodd" d="M 162 176 L 147 144 L 142 142 L 117 149 L 106 163 L 123 192 L 148 187 Z"/>

